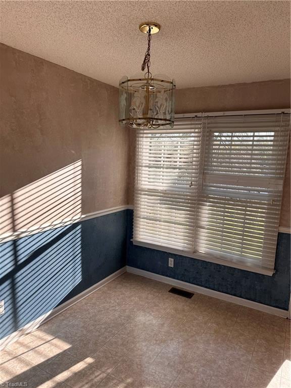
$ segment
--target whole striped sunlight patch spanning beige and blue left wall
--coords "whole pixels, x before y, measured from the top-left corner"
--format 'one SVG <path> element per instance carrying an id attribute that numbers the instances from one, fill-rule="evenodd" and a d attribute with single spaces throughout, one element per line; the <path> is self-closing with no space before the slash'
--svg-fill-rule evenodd
<path id="1" fill-rule="evenodd" d="M 0 200 L 0 337 L 54 309 L 81 281 L 81 225 L 52 229 L 81 216 L 81 168 L 76 161 Z"/>

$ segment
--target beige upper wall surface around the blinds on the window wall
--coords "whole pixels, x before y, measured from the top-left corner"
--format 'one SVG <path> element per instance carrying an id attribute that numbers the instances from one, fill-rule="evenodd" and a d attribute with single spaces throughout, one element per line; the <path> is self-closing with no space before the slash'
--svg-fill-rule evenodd
<path id="1" fill-rule="evenodd" d="M 290 79 L 176 90 L 176 113 L 290 108 Z M 129 203 L 133 203 L 134 132 L 130 133 Z M 284 180 L 281 226 L 290 226 L 290 142 Z"/>

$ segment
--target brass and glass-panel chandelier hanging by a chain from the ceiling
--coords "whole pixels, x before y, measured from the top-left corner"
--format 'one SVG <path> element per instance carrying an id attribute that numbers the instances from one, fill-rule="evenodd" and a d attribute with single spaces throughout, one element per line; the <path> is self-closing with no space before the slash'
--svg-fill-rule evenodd
<path id="1" fill-rule="evenodd" d="M 148 35 L 148 49 L 141 65 L 145 74 L 123 77 L 119 82 L 119 123 L 138 129 L 169 129 L 174 125 L 175 82 L 164 75 L 152 75 L 151 40 L 159 32 L 158 23 L 139 25 L 141 32 Z"/>

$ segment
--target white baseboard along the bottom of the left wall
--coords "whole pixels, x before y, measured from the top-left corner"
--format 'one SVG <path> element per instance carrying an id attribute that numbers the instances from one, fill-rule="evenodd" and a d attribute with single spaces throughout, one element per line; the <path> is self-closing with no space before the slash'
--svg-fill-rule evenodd
<path id="1" fill-rule="evenodd" d="M 126 267 L 119 269 L 118 271 L 107 276 L 105 279 L 103 279 L 103 280 L 99 281 L 98 283 L 92 285 L 91 287 L 85 289 L 82 293 L 76 295 L 75 297 L 73 297 L 69 301 L 67 301 L 67 302 L 63 303 L 62 305 L 56 307 L 55 309 L 41 315 L 39 318 L 28 323 L 27 325 L 20 328 L 19 330 L 7 335 L 2 340 L 0 340 L 0 351 L 3 350 L 4 348 L 6 348 L 8 345 L 12 344 L 13 342 L 17 341 L 22 335 L 28 334 L 28 333 L 36 330 L 43 323 L 49 321 L 50 319 L 54 318 L 56 315 L 67 310 L 69 307 L 73 306 L 75 303 L 86 298 L 88 295 L 92 294 L 93 292 L 95 292 L 99 288 L 103 287 L 105 284 L 109 283 L 110 281 L 116 279 L 118 276 L 122 275 L 125 272 L 126 272 Z"/>

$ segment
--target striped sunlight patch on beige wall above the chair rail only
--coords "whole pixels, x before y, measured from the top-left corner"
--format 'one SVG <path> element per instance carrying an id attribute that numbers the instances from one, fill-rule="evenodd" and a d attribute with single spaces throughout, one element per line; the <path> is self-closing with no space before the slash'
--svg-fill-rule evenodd
<path id="1" fill-rule="evenodd" d="M 25 232 L 79 219 L 82 162 L 78 160 L 0 199 L 0 236 Z"/>

